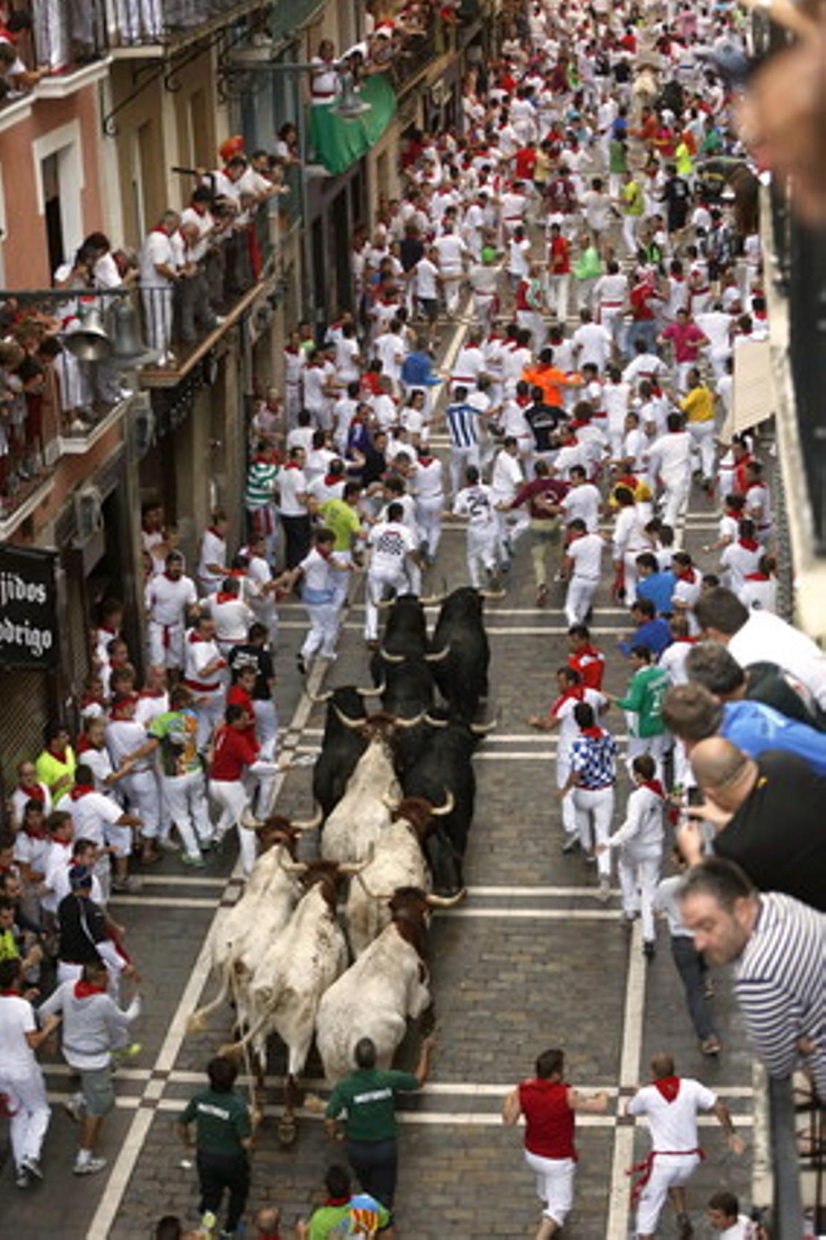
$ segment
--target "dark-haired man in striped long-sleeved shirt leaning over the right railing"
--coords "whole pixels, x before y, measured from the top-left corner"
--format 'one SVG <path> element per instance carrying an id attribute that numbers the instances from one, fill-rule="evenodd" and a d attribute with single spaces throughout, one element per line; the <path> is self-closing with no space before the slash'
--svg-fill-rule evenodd
<path id="1" fill-rule="evenodd" d="M 758 893 L 733 862 L 707 858 L 679 893 L 685 925 L 712 965 L 734 965 L 746 1032 L 770 1076 L 801 1063 L 826 1099 L 826 916 Z"/>

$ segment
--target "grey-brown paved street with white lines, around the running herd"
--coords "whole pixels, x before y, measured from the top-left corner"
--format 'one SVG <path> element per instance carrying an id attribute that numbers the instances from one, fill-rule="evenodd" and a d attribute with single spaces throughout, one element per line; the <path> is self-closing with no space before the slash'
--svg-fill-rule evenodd
<path id="1" fill-rule="evenodd" d="M 689 549 L 698 551 L 711 523 L 711 513 L 697 498 L 685 532 Z M 451 585 L 464 579 L 463 533 L 448 528 L 443 547 L 425 590 L 440 589 L 445 577 Z M 359 583 L 338 662 L 326 683 L 367 680 L 362 589 Z M 719 1087 L 750 1136 L 752 1060 L 741 1045 L 724 981 L 719 980 L 715 1001 L 726 1043 L 717 1061 L 701 1056 L 693 1040 L 665 928 L 660 928 L 656 959 L 646 966 L 638 929 L 634 934 L 623 929 L 618 893 L 601 904 L 593 873 L 580 858 L 561 854 L 555 743 L 526 725 L 526 715 L 554 698 L 554 672 L 566 657 L 560 601 L 557 595 L 545 611 L 535 610 L 523 552 L 506 598 L 487 604 L 493 649 L 489 711 L 495 712 L 498 727 L 476 758 L 478 795 L 466 864 L 467 900 L 438 914 L 431 932 L 440 1040 L 432 1081 L 421 1096 L 409 1099 L 401 1115 L 399 1231 L 419 1240 L 520 1236 L 535 1226 L 537 1203 L 520 1137 L 502 1126 L 499 1112 L 506 1089 L 531 1073 L 536 1053 L 547 1045 L 566 1049 L 572 1084 L 607 1089 L 612 1096 L 609 1115 L 582 1117 L 578 1123 L 577 1199 L 566 1228 L 572 1240 L 624 1240 L 629 1234 L 624 1172 L 644 1154 L 645 1133 L 632 1121 L 618 1120 L 618 1109 L 633 1086 L 644 1081 L 654 1050 L 671 1050 L 682 1074 Z M 300 697 L 295 651 L 303 613 L 292 604 L 281 615 L 280 701 L 282 718 L 291 720 L 284 740 L 301 756 L 317 750 L 323 708 L 310 708 Z M 627 678 L 613 649 L 624 627 L 624 613 L 607 595 L 598 595 L 593 631 L 607 653 L 606 683 L 612 692 L 622 691 Z M 611 727 L 623 735 L 622 720 L 611 719 Z M 280 808 L 307 816 L 310 779 L 307 766 L 291 770 L 279 796 Z M 198 877 L 185 875 L 177 859 L 167 859 L 147 875 L 144 893 L 113 901 L 129 926 L 131 951 L 146 977 L 142 1052 L 118 1074 L 119 1106 L 104 1138 L 111 1169 L 87 1182 L 84 1193 L 67 1194 L 69 1208 L 61 1225 L 66 1240 L 107 1235 L 136 1240 L 147 1235 L 160 1213 L 194 1216 L 196 1177 L 181 1166 L 172 1122 L 199 1085 L 207 1058 L 225 1040 L 230 1013 L 219 1017 L 208 1033 L 193 1037 L 185 1037 L 186 1018 L 204 985 L 212 986 L 203 945 L 215 906 L 230 905 L 239 892 L 227 853 L 213 858 Z M 411 1030 L 402 1065 L 414 1064 L 417 1040 Z M 272 1116 L 279 1110 L 281 1066 L 281 1052 L 272 1047 L 269 1117 L 254 1156 L 251 1202 L 277 1202 L 291 1221 L 317 1195 L 320 1174 L 334 1151 L 316 1116 L 301 1120 L 292 1149 L 279 1148 Z M 316 1059 L 311 1059 L 310 1075 L 320 1075 Z M 48 1084 L 54 1101 L 66 1096 L 64 1069 L 50 1065 Z M 715 1130 L 716 1125 L 703 1130 L 708 1157 L 691 1189 L 700 1228 L 700 1208 L 708 1193 L 721 1187 L 744 1198 L 749 1193 L 750 1143 L 746 1158 L 734 1161 L 723 1153 Z M 69 1120 L 59 1107 L 48 1157 L 47 1183 L 17 1198 L 14 1214 L 4 1209 L 4 1240 L 47 1234 L 42 1220 L 59 1211 L 72 1157 Z M 7 1166 L 4 1180 L 11 1192 Z M 671 1234 L 671 1219 L 665 1219 L 660 1234 Z"/>

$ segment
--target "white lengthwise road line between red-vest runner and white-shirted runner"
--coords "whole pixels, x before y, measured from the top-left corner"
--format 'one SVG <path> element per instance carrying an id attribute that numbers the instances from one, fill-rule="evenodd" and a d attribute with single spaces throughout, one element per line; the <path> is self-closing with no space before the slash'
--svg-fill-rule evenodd
<path id="1" fill-rule="evenodd" d="M 645 1019 L 645 970 L 643 956 L 643 926 L 635 921 L 628 944 L 628 980 L 625 983 L 625 1011 L 623 1013 L 623 1044 L 619 1059 L 620 1086 L 635 1086 L 639 1081 L 643 1050 L 643 1023 Z M 614 1131 L 614 1151 L 611 1164 L 611 1195 L 606 1240 L 625 1240 L 628 1236 L 628 1210 L 630 1208 L 630 1178 L 625 1174 L 634 1161 L 634 1128 L 618 1126 Z"/>

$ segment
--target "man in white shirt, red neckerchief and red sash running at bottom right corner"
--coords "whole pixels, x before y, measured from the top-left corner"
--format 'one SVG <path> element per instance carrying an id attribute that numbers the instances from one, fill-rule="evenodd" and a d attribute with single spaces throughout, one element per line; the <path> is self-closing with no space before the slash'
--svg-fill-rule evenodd
<path id="1" fill-rule="evenodd" d="M 713 1111 L 733 1153 L 742 1154 L 746 1149 L 724 1102 L 700 1081 L 676 1076 L 670 1055 L 654 1055 L 651 1075 L 654 1084 L 638 1090 L 625 1106 L 628 1115 L 646 1117 L 651 1137 L 651 1152 L 635 1189 L 639 1240 L 650 1240 L 656 1234 L 666 1197 L 674 1202 L 679 1225 L 687 1223 L 685 1185 L 702 1157 L 697 1137 L 700 1111 Z"/>

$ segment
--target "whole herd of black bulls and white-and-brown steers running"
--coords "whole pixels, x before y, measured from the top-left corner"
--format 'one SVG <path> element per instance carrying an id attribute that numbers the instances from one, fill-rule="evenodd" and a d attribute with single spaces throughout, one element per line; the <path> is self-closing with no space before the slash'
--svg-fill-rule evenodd
<path id="1" fill-rule="evenodd" d="M 251 1048 L 259 1080 L 267 1038 L 279 1034 L 287 1048 L 285 1142 L 295 1136 L 297 1083 L 313 1037 L 332 1083 L 352 1070 L 362 1037 L 375 1043 L 379 1066 L 389 1066 L 407 1019 L 431 1006 L 430 911 L 464 894 L 472 756 L 493 727 L 476 722 L 490 661 L 484 596 L 466 587 L 443 601 L 401 595 L 389 604 L 373 684 L 315 699 L 327 708 L 313 770 L 317 817 L 248 823 L 261 856 L 213 936 L 219 992 L 189 1028 L 204 1028 L 229 998 L 240 1038 L 224 1053 Z M 435 601 L 442 606 L 428 639 L 425 605 Z M 380 712 L 368 713 L 370 697 L 381 699 Z M 298 861 L 298 839 L 316 830 L 318 859 Z M 347 931 L 338 911 L 346 878 Z"/>

